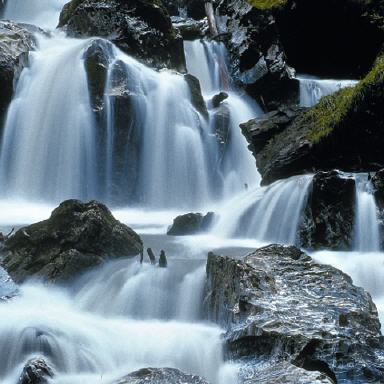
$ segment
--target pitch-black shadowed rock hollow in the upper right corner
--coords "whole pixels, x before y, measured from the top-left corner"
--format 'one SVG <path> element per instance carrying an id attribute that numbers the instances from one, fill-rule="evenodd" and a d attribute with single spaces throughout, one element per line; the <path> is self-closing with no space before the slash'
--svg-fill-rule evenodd
<path id="1" fill-rule="evenodd" d="M 299 73 L 359 78 L 383 40 L 383 1 L 288 0 L 276 12 L 287 60 Z"/>

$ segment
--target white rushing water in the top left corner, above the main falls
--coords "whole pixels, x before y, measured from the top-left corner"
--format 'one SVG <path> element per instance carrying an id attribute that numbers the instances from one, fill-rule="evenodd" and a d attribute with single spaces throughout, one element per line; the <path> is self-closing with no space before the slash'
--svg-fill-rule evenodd
<path id="1" fill-rule="evenodd" d="M 60 12 L 67 2 L 68 0 L 8 0 L 3 17 L 53 29 L 57 26 Z"/>

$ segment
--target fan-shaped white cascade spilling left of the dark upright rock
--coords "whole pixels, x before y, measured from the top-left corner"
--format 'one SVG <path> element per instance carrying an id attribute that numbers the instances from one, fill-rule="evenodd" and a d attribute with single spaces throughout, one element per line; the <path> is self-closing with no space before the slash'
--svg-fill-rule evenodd
<path id="1" fill-rule="evenodd" d="M 297 244 L 297 230 L 311 182 L 312 175 L 294 176 L 245 191 L 221 207 L 212 232 L 262 243 Z"/>

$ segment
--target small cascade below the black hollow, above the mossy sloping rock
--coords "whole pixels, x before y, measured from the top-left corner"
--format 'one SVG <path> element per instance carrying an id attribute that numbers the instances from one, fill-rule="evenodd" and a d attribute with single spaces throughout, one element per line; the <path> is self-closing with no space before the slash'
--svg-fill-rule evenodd
<path id="1" fill-rule="evenodd" d="M 323 96 L 357 84 L 355 80 L 325 80 L 308 75 L 299 75 L 297 79 L 300 83 L 300 106 L 302 107 L 312 107 Z"/>

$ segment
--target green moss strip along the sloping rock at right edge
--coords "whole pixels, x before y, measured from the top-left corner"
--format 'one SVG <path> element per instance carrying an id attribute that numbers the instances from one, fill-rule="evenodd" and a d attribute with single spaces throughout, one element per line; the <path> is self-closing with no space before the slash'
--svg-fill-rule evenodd
<path id="1" fill-rule="evenodd" d="M 328 136 L 345 120 L 356 101 L 364 96 L 365 90 L 383 81 L 384 56 L 381 56 L 367 76 L 355 87 L 344 88 L 331 96 L 323 97 L 318 105 L 304 114 L 302 123 L 310 127 L 308 140 L 317 143 Z"/>

